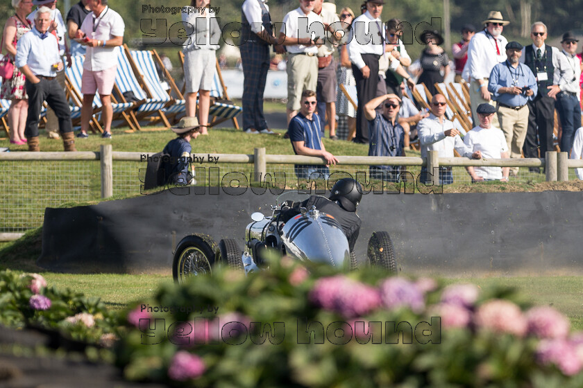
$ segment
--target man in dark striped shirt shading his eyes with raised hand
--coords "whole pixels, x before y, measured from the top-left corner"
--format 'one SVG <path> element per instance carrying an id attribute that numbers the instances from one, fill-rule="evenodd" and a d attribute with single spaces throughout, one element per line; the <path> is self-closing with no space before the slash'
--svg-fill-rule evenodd
<path id="1" fill-rule="evenodd" d="M 385 94 L 364 105 L 364 117 L 369 123 L 369 157 L 405 156 L 403 141 L 405 131 L 397 121 L 401 99 L 396 94 Z M 382 114 L 375 109 L 381 106 Z M 372 179 L 398 182 L 400 166 L 371 166 Z"/>

